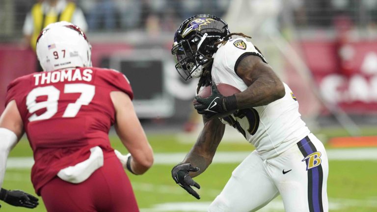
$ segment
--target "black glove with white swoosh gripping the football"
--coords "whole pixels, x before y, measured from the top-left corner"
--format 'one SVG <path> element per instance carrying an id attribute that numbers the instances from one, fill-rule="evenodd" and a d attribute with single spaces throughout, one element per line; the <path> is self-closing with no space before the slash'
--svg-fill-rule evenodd
<path id="1" fill-rule="evenodd" d="M 235 95 L 224 97 L 218 92 L 215 83 L 212 84 L 211 90 L 212 94 L 208 98 L 195 97 L 194 107 L 199 114 L 204 115 L 206 118 L 212 118 L 215 115 L 221 117 L 221 114 L 225 116 L 225 113 L 237 108 Z"/>

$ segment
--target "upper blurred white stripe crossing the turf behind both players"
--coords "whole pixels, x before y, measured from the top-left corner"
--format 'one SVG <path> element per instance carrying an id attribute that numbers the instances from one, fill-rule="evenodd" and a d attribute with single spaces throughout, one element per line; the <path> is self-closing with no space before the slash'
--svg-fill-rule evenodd
<path id="1" fill-rule="evenodd" d="M 377 148 L 330 149 L 329 160 L 377 160 Z M 217 152 L 212 163 L 238 163 L 251 152 Z M 187 153 L 156 153 L 154 164 L 174 165 L 181 162 Z M 30 168 L 34 164 L 32 157 L 8 158 L 7 168 Z"/>

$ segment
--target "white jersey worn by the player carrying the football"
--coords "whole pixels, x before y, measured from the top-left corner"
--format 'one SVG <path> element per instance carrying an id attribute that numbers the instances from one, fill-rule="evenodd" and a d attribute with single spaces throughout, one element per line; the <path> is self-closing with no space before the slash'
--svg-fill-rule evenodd
<path id="1" fill-rule="evenodd" d="M 266 62 L 254 45 L 244 38 L 230 39 L 219 47 L 212 66 L 213 82 L 230 84 L 244 91 L 247 85 L 236 74 L 235 67 L 246 55 L 257 55 Z M 295 95 L 287 84 L 284 83 L 284 87 L 283 98 L 266 106 L 238 110 L 221 119 L 241 132 L 264 159 L 283 153 L 310 133 L 301 120 Z"/>

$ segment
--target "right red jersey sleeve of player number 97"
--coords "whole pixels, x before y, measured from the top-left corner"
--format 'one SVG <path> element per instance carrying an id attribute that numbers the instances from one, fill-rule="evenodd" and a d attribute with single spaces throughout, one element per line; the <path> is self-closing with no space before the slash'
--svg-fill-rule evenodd
<path id="1" fill-rule="evenodd" d="M 112 69 L 108 69 L 103 73 L 102 79 L 111 91 L 122 91 L 126 93 L 131 100 L 134 99 L 134 92 L 132 91 L 130 81 L 124 74 Z"/>

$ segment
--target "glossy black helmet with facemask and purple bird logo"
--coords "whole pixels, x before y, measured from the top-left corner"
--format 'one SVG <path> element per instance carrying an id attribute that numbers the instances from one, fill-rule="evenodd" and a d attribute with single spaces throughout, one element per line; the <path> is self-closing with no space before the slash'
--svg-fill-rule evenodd
<path id="1" fill-rule="evenodd" d="M 171 53 L 175 68 L 184 79 L 200 78 L 211 66 L 215 43 L 229 34 L 228 24 L 219 17 L 199 14 L 186 19 L 174 34 Z"/>

